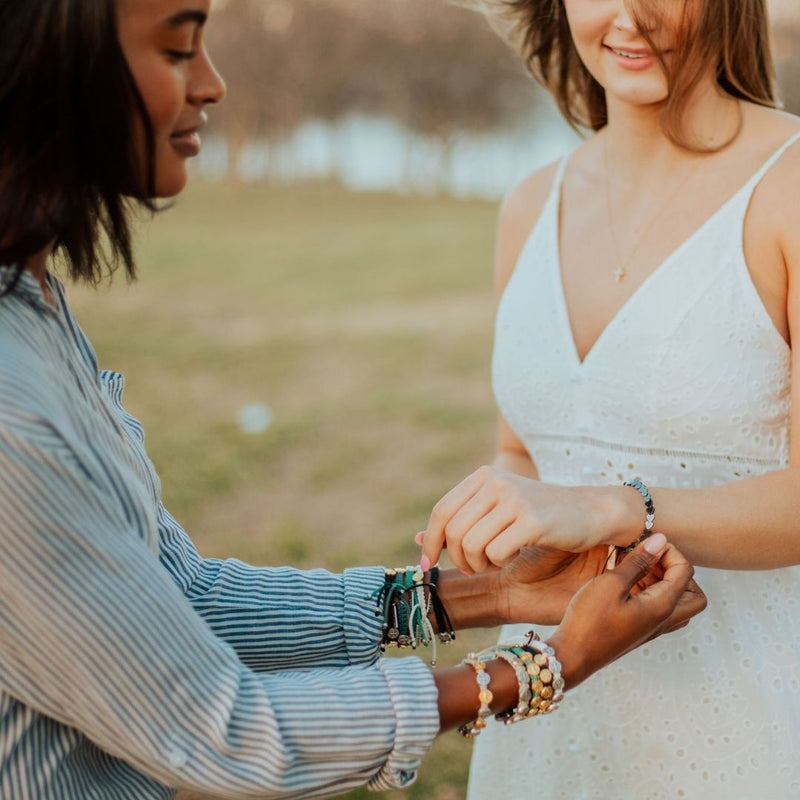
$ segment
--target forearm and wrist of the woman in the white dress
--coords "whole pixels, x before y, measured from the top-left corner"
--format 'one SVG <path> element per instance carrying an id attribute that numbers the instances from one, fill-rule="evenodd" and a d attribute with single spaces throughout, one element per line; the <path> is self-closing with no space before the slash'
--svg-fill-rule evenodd
<path id="1" fill-rule="evenodd" d="M 649 488 L 655 530 L 698 566 L 759 570 L 800 563 L 800 467 L 703 489 Z M 645 510 L 634 489 L 587 491 L 599 541 L 625 546 L 640 535 Z"/>

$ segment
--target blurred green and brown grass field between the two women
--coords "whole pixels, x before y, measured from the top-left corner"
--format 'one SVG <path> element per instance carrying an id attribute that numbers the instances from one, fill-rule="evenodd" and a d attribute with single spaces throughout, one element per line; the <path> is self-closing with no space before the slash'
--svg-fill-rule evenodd
<path id="1" fill-rule="evenodd" d="M 136 284 L 72 290 L 204 555 L 334 570 L 417 556 L 433 503 L 493 453 L 494 218 L 327 185 L 198 185 L 142 225 Z M 257 435 L 237 424 L 253 403 L 273 415 Z M 468 757 L 450 734 L 407 792 L 348 797 L 459 800 Z"/>

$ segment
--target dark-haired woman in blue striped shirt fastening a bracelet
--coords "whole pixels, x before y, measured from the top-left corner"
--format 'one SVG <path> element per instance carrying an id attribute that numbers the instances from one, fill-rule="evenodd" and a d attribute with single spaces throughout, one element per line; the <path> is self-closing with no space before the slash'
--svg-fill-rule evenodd
<path id="1" fill-rule="evenodd" d="M 565 685 L 703 607 L 661 535 L 599 577 L 597 552 L 529 551 L 477 581 L 200 558 L 50 265 L 132 274 L 130 207 L 181 191 L 224 94 L 208 6 L 0 0 L 3 800 L 404 786 L 439 730 L 553 711 Z M 563 616 L 546 643 L 436 674 L 379 657 L 534 609 Z"/>

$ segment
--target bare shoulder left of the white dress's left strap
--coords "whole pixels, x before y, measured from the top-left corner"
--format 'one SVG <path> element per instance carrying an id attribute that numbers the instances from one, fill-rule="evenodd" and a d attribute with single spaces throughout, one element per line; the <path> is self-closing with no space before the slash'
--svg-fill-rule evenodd
<path id="1" fill-rule="evenodd" d="M 554 161 L 528 175 L 500 204 L 495 250 L 495 288 L 498 295 L 508 283 L 522 248 L 542 214 L 558 171 Z"/>

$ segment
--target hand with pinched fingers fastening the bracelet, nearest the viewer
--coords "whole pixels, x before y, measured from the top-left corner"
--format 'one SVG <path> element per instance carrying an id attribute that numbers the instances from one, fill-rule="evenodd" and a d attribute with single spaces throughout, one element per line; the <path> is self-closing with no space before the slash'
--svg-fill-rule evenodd
<path id="1" fill-rule="evenodd" d="M 663 575 L 654 581 L 656 567 Z M 701 612 L 707 601 L 693 574 L 691 564 L 658 533 L 613 571 L 586 584 L 549 639 L 568 687 Z"/>

